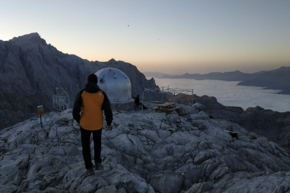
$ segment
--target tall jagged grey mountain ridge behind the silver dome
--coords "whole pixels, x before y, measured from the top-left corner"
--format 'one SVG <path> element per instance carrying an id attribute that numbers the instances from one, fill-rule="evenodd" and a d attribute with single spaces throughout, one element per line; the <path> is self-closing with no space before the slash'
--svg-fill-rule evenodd
<path id="1" fill-rule="evenodd" d="M 68 93 L 72 108 L 76 93 L 85 86 L 87 75 L 108 67 L 127 74 L 131 80 L 132 96 L 142 94 L 143 88 L 156 87 L 153 78 L 147 80 L 130 63 L 114 59 L 88 61 L 65 54 L 47 44 L 38 33 L 14 37 L 10 41 L 0 40 L 0 110 L 8 110 L 14 116 L 17 111 L 35 113 L 36 107 L 43 105 L 45 112 L 50 112 L 54 86 L 58 83 Z M 146 100 L 158 97 L 158 94 L 144 93 Z M 19 118 L 19 121 L 23 120 Z"/>

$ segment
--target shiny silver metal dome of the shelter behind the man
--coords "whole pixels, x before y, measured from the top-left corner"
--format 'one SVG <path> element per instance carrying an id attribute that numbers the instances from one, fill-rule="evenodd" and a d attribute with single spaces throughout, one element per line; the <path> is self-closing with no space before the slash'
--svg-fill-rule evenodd
<path id="1" fill-rule="evenodd" d="M 97 85 L 108 95 L 110 102 L 131 100 L 131 81 L 128 76 L 116 68 L 104 68 L 97 73 Z"/>

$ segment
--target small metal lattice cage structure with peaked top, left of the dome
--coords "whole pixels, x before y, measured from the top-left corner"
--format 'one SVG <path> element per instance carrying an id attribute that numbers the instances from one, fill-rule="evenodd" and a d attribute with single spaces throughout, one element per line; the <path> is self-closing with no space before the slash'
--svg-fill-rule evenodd
<path id="1" fill-rule="evenodd" d="M 62 111 L 69 108 L 68 93 L 60 85 L 55 85 L 52 95 L 52 108 L 54 111 Z"/>

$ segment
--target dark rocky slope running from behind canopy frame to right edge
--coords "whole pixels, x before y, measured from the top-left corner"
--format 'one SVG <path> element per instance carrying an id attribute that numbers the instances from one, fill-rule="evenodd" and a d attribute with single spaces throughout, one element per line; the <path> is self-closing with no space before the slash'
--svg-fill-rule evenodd
<path id="1" fill-rule="evenodd" d="M 173 101 L 173 97 L 169 98 Z M 175 102 L 191 104 L 191 95 L 176 95 Z M 224 106 L 215 97 L 193 95 L 193 104 L 199 102 L 206 106 L 206 112 L 215 119 L 234 122 L 248 131 L 267 137 L 282 146 L 290 154 L 290 111 L 277 112 L 259 106 L 241 107 Z"/>

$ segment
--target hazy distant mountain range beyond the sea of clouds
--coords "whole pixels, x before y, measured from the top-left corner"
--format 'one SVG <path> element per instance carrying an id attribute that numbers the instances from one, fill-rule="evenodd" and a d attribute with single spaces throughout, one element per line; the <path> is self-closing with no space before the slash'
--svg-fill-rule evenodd
<path id="1" fill-rule="evenodd" d="M 290 66 L 282 66 L 279 69 L 257 73 L 242 73 L 237 70 L 234 72 L 212 72 L 208 74 L 185 73 L 183 75 L 169 75 L 158 72 L 145 72 L 144 74 L 146 77 L 156 78 L 241 81 L 237 85 L 265 87 L 265 89 L 282 90 L 278 94 L 290 94 Z"/>

